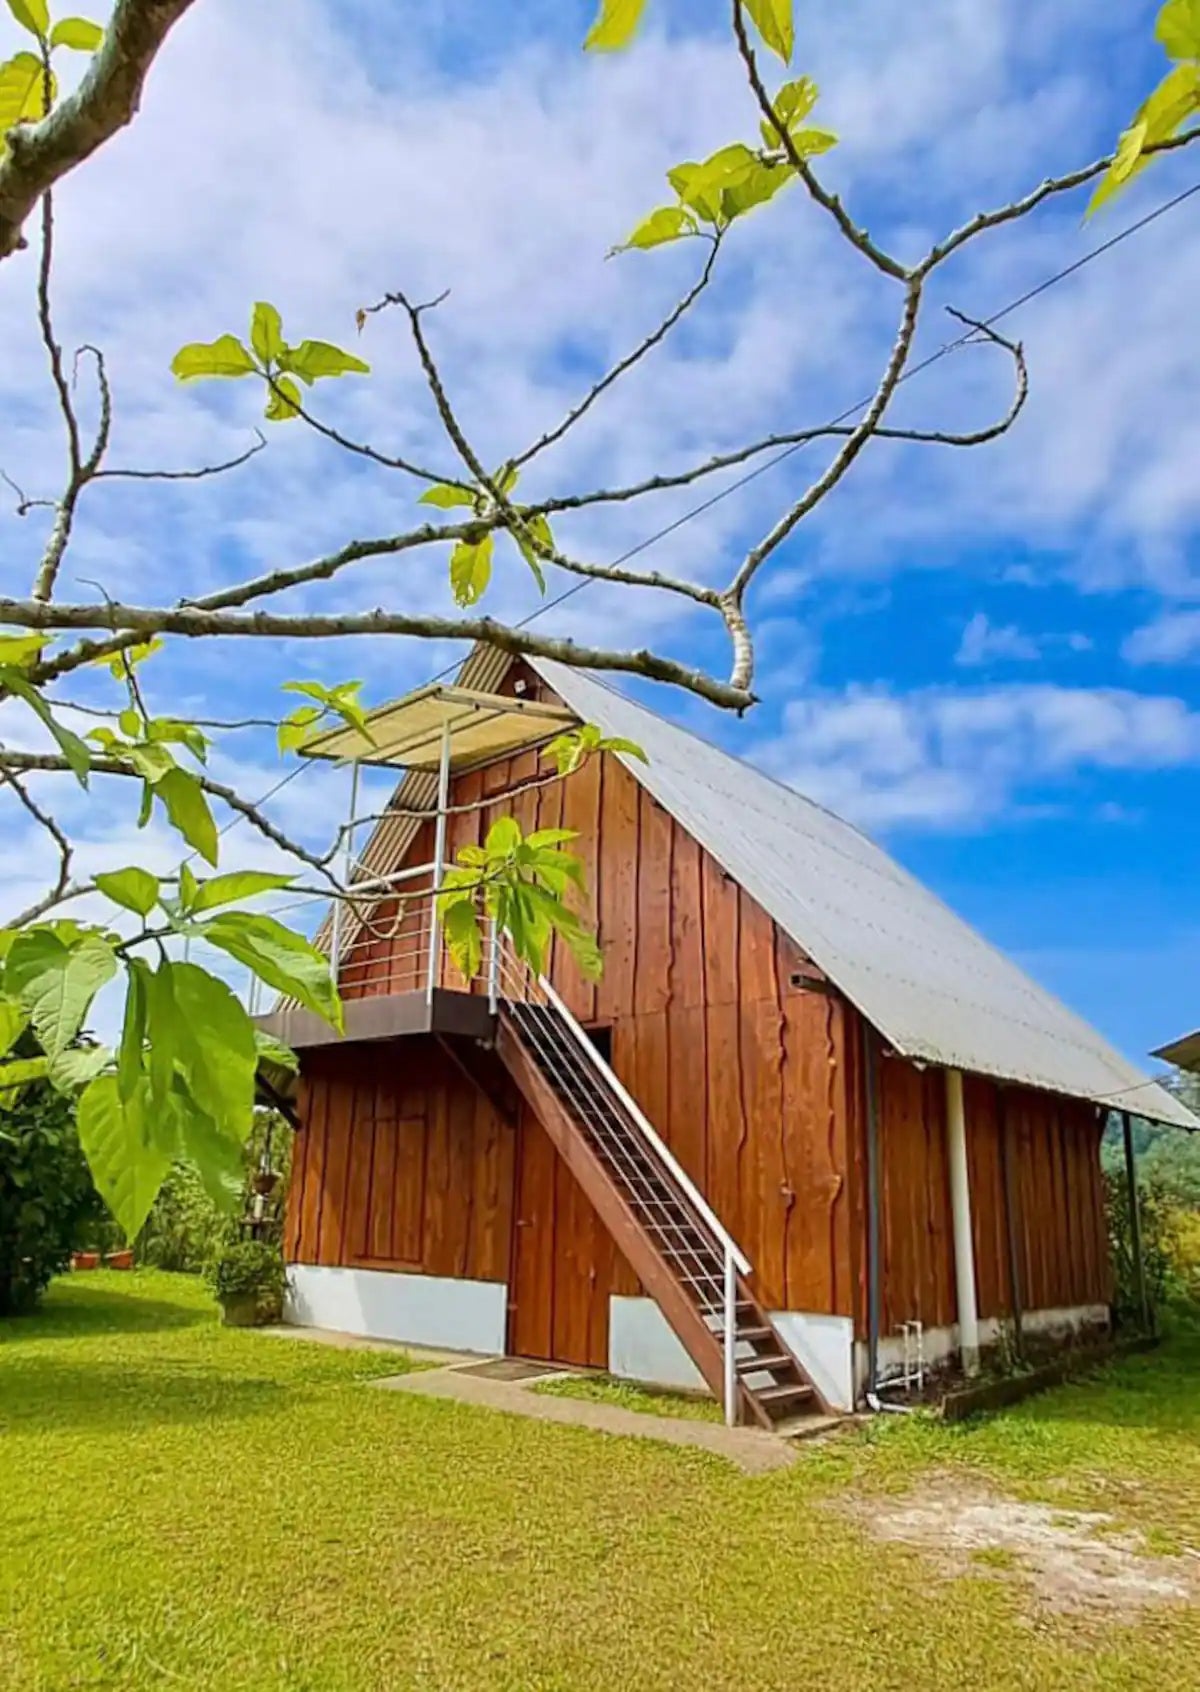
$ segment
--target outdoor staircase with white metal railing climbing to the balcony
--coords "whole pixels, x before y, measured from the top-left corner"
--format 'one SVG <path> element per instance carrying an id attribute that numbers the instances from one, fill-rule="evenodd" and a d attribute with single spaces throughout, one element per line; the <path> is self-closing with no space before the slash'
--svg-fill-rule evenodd
<path id="1" fill-rule="evenodd" d="M 726 1421 L 779 1428 L 826 1409 L 753 1296 L 745 1255 L 586 1030 L 506 941 L 496 951 L 496 1051 Z"/>

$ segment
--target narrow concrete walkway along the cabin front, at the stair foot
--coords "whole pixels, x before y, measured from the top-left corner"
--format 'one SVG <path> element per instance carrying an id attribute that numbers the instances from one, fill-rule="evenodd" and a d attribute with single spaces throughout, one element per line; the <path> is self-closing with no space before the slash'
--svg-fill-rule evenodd
<path id="1" fill-rule="evenodd" d="M 415 1393 L 418 1398 L 445 1398 L 457 1404 L 476 1404 L 481 1409 L 501 1409 L 511 1416 L 530 1416 L 533 1421 L 560 1421 L 570 1428 L 592 1428 L 596 1433 L 618 1433 L 635 1440 L 658 1440 L 663 1445 L 689 1445 L 714 1457 L 724 1457 L 745 1474 L 758 1475 L 772 1469 L 787 1469 L 797 1452 L 790 1440 L 760 1428 L 724 1428 L 716 1421 L 685 1421 L 677 1416 L 652 1416 L 640 1409 L 621 1409 L 619 1404 L 596 1404 L 582 1398 L 553 1398 L 548 1393 L 531 1393 L 535 1379 L 553 1379 L 564 1371 L 547 1371 L 530 1381 L 489 1381 L 467 1374 L 464 1364 L 449 1369 L 425 1369 L 420 1374 L 386 1376 L 371 1386 L 386 1393 Z M 821 1420 L 823 1426 L 836 1426 L 838 1418 Z M 814 1426 L 812 1430 L 821 1431 Z"/>

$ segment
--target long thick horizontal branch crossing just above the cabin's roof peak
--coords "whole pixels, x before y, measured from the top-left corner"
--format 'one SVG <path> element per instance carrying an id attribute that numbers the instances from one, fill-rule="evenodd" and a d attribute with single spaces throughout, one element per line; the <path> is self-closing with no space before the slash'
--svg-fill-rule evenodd
<path id="1" fill-rule="evenodd" d="M 416 634 L 423 640 L 484 641 L 515 656 L 553 658 L 559 663 L 584 670 L 618 670 L 626 675 L 643 675 L 652 682 L 672 682 L 701 699 L 729 711 L 751 706 L 753 695 L 745 687 L 718 682 L 704 670 L 663 658 L 658 653 L 614 651 L 603 646 L 579 646 L 572 640 L 535 634 L 528 628 L 513 628 L 493 618 L 440 618 L 393 611 L 350 611 L 340 616 L 271 614 L 267 611 L 225 613 L 205 611 L 200 606 L 44 604 L 30 599 L 0 599 L 0 623 L 30 629 L 112 629 L 118 638 L 146 640 L 151 634 L 188 636 L 250 636 L 284 640 L 327 640 L 335 634 Z M 132 643 L 125 640 L 125 645 Z M 80 641 L 71 650 L 69 668 L 90 663 L 112 646 L 108 641 Z M 46 680 L 63 673 L 64 660 L 51 660 L 30 668 L 32 680 Z"/>

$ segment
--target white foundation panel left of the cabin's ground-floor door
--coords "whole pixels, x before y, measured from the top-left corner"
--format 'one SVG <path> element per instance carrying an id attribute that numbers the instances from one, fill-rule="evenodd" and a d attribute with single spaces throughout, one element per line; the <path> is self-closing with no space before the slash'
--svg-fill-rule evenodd
<path id="1" fill-rule="evenodd" d="M 284 1320 L 372 1340 L 503 1355 L 508 1286 L 391 1269 L 291 1264 Z"/>

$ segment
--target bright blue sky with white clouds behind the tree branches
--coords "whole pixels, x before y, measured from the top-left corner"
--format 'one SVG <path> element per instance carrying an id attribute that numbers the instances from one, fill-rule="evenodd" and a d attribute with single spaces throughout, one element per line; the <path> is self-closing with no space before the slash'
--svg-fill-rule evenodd
<path id="1" fill-rule="evenodd" d="M 819 120 L 843 137 L 824 174 L 916 255 L 1109 146 L 1161 71 L 1154 10 L 806 0 L 795 68 L 817 78 Z M 635 51 L 596 61 L 579 52 L 582 0 L 200 0 L 134 129 L 61 196 L 59 318 L 68 340 L 108 350 L 115 457 L 188 464 L 247 442 L 256 396 L 181 391 L 166 367 L 181 342 L 240 328 L 256 298 L 298 335 L 349 340 L 355 306 L 386 288 L 449 286 L 438 355 L 499 462 L 694 274 L 687 250 L 604 252 L 665 196 L 667 166 L 753 137 L 724 12 L 650 0 Z M 1197 178 L 1200 154 L 1164 162 L 1097 225 L 1083 227 L 1080 198 L 1053 206 L 955 261 L 936 301 L 987 315 Z M 735 722 L 647 695 L 861 822 L 1131 1056 L 1200 1019 L 1198 284 L 1193 200 L 1010 321 L 1032 381 L 1012 437 L 972 453 L 878 445 L 780 550 L 751 604 L 758 711 Z M 3 266 L 0 464 L 41 492 L 61 447 L 29 289 L 29 266 Z M 530 491 L 823 421 L 873 386 L 895 308 L 790 191 L 746 220 L 704 310 Z M 931 311 L 922 349 L 951 332 Z M 327 415 L 447 457 L 401 325 L 372 323 L 366 350 L 376 374 L 342 384 Z M 909 384 L 897 415 L 977 423 L 1004 409 L 1007 381 L 997 355 L 956 354 Z M 789 460 L 643 562 L 719 580 L 819 462 L 819 448 Z M 611 557 L 684 506 L 601 513 L 562 538 Z M 220 484 L 105 491 L 85 513 L 69 587 L 86 594 L 78 579 L 95 577 L 130 599 L 196 592 L 413 514 L 394 477 L 274 431 L 254 467 Z M 0 511 L 5 589 L 27 585 L 36 521 Z M 449 609 L 443 560 L 403 577 L 372 565 L 301 602 Z M 533 609 L 520 567 L 499 572 L 489 609 Z M 587 591 L 547 626 L 726 662 L 719 631 L 645 596 Z M 156 660 L 154 687 L 162 707 L 259 714 L 278 709 L 288 675 L 362 675 L 377 700 L 450 656 L 396 643 L 184 646 Z M 100 684 L 74 697 L 100 697 Z M 249 792 L 279 775 L 271 739 L 254 734 L 228 744 L 222 768 Z M 63 788 L 59 802 L 85 861 L 129 861 L 130 795 L 83 809 Z M 333 802 L 328 778 L 306 775 L 276 805 L 318 839 Z M 39 876 L 32 849 L 17 841 L 3 870 L 10 905 Z M 149 849 L 166 868 L 171 841 L 151 836 Z M 240 834 L 228 849 L 259 861 Z"/>

